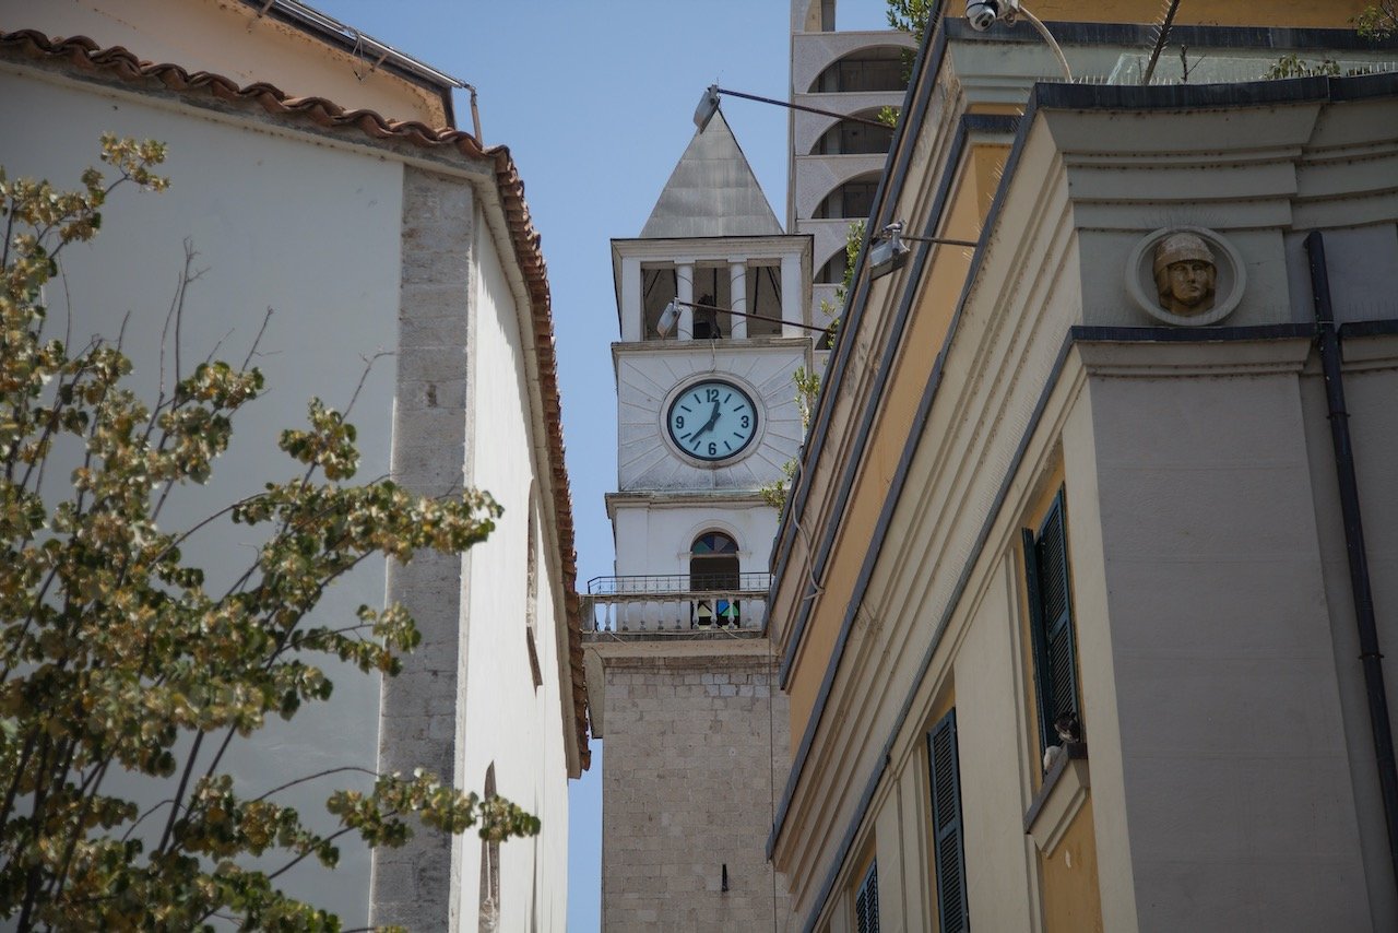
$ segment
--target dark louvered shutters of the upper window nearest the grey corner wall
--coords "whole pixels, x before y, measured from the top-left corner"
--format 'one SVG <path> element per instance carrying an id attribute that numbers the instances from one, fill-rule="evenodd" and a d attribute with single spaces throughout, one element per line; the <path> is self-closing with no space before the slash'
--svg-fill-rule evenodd
<path id="1" fill-rule="evenodd" d="M 1062 492 L 1054 498 L 1039 534 L 1025 532 L 1029 571 L 1030 629 L 1042 748 L 1058 744 L 1054 720 L 1078 712 L 1078 664 L 1074 657 L 1072 600 L 1068 582 L 1068 534 Z"/>

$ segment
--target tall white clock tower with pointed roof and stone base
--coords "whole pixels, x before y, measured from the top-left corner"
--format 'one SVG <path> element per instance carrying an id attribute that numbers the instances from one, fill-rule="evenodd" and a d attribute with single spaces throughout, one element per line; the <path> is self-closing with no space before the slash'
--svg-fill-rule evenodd
<path id="1" fill-rule="evenodd" d="M 612 241 L 612 274 L 617 564 L 583 597 L 603 929 L 781 929 L 766 836 L 788 719 L 761 488 L 801 445 L 793 373 L 823 365 L 811 238 L 781 231 L 720 113 L 640 236 Z"/>

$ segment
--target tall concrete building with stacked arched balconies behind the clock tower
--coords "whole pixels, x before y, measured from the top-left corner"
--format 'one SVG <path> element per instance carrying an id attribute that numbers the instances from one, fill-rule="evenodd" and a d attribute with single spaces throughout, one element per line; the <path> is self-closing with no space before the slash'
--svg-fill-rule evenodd
<path id="1" fill-rule="evenodd" d="M 898 108 L 907 90 L 913 39 L 896 29 L 839 29 L 836 0 L 791 0 L 791 102 L 863 120 Z M 850 224 L 874 206 L 893 127 L 790 111 L 787 229 L 809 234 L 811 305 L 816 320 L 839 315 Z"/>

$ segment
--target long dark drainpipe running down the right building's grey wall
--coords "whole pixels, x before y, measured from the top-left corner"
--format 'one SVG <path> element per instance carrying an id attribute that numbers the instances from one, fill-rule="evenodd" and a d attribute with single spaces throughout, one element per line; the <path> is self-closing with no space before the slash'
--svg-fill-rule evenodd
<path id="1" fill-rule="evenodd" d="M 1355 627 L 1359 629 L 1359 660 L 1364 666 L 1369 726 L 1374 736 L 1374 764 L 1378 767 L 1378 790 L 1383 796 L 1384 818 L 1388 828 L 1388 855 L 1392 862 L 1394 884 L 1398 887 L 1398 765 L 1394 762 L 1394 733 L 1392 725 L 1388 722 L 1383 653 L 1378 650 L 1378 625 L 1374 622 L 1374 594 L 1369 586 L 1369 553 L 1364 550 L 1364 529 L 1359 515 L 1355 450 L 1349 442 L 1349 413 L 1345 410 L 1345 385 L 1339 371 L 1339 329 L 1335 326 L 1335 309 L 1329 301 L 1325 241 L 1320 231 L 1311 231 L 1306 236 L 1306 253 L 1310 257 L 1311 294 L 1316 299 L 1316 339 L 1320 343 L 1325 400 L 1329 407 L 1329 436 L 1335 446 L 1339 509 L 1345 520 L 1349 587 L 1355 599 Z"/>

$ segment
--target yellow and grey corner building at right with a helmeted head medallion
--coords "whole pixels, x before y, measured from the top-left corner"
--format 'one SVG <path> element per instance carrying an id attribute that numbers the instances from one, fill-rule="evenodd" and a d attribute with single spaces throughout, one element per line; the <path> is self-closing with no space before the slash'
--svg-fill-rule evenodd
<path id="1" fill-rule="evenodd" d="M 1398 52 L 1032 6 L 1078 83 L 934 4 L 871 215 L 976 246 L 865 248 L 779 529 L 790 929 L 1395 929 Z"/>

